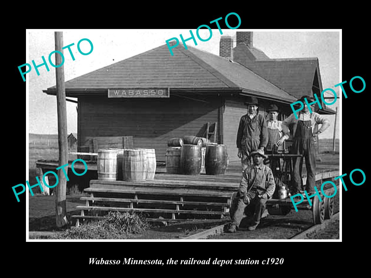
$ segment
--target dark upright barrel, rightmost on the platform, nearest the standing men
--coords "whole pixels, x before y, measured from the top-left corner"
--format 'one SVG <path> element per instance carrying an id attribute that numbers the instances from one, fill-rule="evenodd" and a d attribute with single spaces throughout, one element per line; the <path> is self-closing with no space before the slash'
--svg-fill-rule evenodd
<path id="1" fill-rule="evenodd" d="M 225 145 L 208 145 L 205 154 L 206 175 L 224 175 L 227 166 L 227 147 Z"/>

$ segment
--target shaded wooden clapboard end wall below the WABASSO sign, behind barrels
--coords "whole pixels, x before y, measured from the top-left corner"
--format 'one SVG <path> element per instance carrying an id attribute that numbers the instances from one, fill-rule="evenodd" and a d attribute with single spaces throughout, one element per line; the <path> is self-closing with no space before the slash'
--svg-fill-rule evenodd
<path id="1" fill-rule="evenodd" d="M 218 122 L 220 106 L 221 98 L 204 103 L 180 97 L 79 97 L 79 149 L 93 137 L 132 135 L 134 148 L 154 148 L 157 160 L 164 161 L 168 139 L 196 135 L 206 122 Z"/>

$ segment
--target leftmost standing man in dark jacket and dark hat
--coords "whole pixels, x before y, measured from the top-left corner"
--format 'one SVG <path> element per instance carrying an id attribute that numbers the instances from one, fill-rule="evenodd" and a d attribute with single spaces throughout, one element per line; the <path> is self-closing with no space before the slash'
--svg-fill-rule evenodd
<path id="1" fill-rule="evenodd" d="M 258 100 L 256 97 L 250 97 L 245 103 L 247 114 L 240 119 L 240 125 L 237 131 L 237 156 L 241 158 L 242 171 L 249 166 L 253 151 L 263 150 L 268 143 L 268 132 L 265 118 L 257 113 Z"/>

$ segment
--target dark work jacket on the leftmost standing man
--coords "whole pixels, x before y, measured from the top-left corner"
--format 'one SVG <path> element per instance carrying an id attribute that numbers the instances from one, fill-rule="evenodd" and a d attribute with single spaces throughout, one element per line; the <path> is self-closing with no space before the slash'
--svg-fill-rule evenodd
<path id="1" fill-rule="evenodd" d="M 246 148 L 248 152 L 259 148 L 265 148 L 268 143 L 268 131 L 265 118 L 257 114 L 250 119 L 249 115 L 243 115 L 237 132 L 237 148 Z"/>

